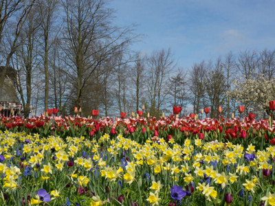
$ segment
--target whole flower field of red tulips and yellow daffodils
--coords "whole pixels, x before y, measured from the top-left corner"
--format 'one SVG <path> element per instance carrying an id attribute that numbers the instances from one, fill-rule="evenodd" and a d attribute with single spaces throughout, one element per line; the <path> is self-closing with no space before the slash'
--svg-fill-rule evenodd
<path id="1" fill-rule="evenodd" d="M 0 205 L 275 205 L 272 119 L 124 117 L 1 116 Z"/>

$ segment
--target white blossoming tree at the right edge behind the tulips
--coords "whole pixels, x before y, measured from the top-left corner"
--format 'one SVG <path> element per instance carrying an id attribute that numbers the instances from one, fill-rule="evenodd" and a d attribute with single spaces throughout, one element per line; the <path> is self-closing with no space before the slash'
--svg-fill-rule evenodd
<path id="1" fill-rule="evenodd" d="M 275 100 L 275 78 L 267 80 L 263 75 L 255 79 L 234 81 L 236 89 L 228 91 L 228 96 L 238 104 L 245 106 L 245 113 L 253 112 L 261 117 L 263 113 L 271 115 L 269 102 Z"/>

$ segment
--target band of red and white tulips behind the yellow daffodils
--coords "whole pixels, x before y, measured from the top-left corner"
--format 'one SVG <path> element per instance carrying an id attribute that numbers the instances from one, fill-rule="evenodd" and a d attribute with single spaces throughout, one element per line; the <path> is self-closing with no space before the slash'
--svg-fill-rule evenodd
<path id="1" fill-rule="evenodd" d="M 275 102 L 275 101 L 274 101 Z M 272 105 L 272 104 L 271 104 Z M 275 105 L 275 104 L 274 104 Z M 146 139 L 158 137 L 168 141 L 173 138 L 177 144 L 182 145 L 185 139 L 206 139 L 206 141 L 230 141 L 233 144 L 242 144 L 245 148 L 254 144 L 256 148 L 263 150 L 270 144 L 275 144 L 275 121 L 270 118 L 254 119 L 255 115 L 250 113 L 248 117 L 223 118 L 210 117 L 197 119 L 197 115 L 185 115 L 178 118 L 177 113 L 180 107 L 174 106 L 175 115 L 156 117 L 142 117 L 142 111 L 137 117 L 126 118 L 126 113 L 115 119 L 109 117 L 96 118 L 99 111 L 92 111 L 94 117 L 74 117 L 64 118 L 56 115 L 58 110 L 48 109 L 45 115 L 24 118 L 20 116 L 5 117 L 0 116 L 0 130 L 10 130 L 11 132 L 25 132 L 30 135 L 39 134 L 41 137 L 50 135 L 59 136 L 65 139 L 70 137 L 85 136 L 88 139 L 99 139 L 102 134 L 108 133 L 111 138 L 118 134 L 134 139 L 140 144 L 144 144 Z M 206 110 L 207 111 L 207 110 Z"/>

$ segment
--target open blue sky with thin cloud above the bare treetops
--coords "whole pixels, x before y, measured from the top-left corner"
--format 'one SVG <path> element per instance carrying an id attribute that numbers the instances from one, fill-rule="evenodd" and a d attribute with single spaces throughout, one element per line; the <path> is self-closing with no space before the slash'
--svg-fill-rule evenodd
<path id="1" fill-rule="evenodd" d="M 179 67 L 230 51 L 275 49 L 274 0 L 114 0 L 109 6 L 117 25 L 136 23 L 135 32 L 146 35 L 133 49 L 170 47 Z"/>

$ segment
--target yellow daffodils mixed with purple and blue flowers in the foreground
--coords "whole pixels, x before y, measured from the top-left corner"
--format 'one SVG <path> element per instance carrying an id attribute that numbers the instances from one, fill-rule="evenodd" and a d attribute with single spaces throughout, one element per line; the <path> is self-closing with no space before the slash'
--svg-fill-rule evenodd
<path id="1" fill-rule="evenodd" d="M 0 152 L 0 205 L 275 205 L 272 145 L 5 130 Z"/>

